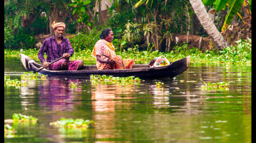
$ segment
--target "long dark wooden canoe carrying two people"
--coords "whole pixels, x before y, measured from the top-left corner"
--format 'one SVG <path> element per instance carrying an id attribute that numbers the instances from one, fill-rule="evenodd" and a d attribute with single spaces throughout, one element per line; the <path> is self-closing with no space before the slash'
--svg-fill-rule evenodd
<path id="1" fill-rule="evenodd" d="M 27 71 L 37 71 L 43 65 L 36 63 L 27 55 L 20 54 L 21 63 Z M 170 77 L 173 78 L 176 75 L 183 73 L 189 67 L 190 56 L 174 61 L 169 65 L 149 68 L 147 64 L 135 64 L 132 69 L 124 70 L 97 70 L 96 65 L 84 65 L 82 70 L 68 71 L 68 70 L 40 70 L 39 73 L 44 75 L 67 75 L 67 76 L 79 76 L 89 77 L 90 75 L 113 75 L 119 77 L 135 76 L 139 78 L 161 78 Z"/>

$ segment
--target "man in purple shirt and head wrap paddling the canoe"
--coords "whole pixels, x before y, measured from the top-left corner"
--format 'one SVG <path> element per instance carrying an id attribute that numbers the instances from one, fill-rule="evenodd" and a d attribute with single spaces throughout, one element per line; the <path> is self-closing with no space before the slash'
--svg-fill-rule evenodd
<path id="1" fill-rule="evenodd" d="M 46 38 L 38 53 L 38 58 L 43 63 L 44 68 L 49 67 L 50 70 L 79 70 L 82 68 L 84 65 L 82 60 L 69 60 L 69 57 L 74 54 L 74 49 L 69 39 L 62 36 L 66 28 L 65 23 L 55 23 L 54 21 L 51 27 L 54 28 L 54 36 Z M 44 53 L 47 55 L 46 60 Z M 61 57 L 64 58 L 49 65 Z"/>

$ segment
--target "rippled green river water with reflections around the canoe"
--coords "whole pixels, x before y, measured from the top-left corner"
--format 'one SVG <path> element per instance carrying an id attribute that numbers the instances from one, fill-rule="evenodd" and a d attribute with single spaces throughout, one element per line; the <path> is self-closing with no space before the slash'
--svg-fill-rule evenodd
<path id="1" fill-rule="evenodd" d="M 19 58 L 5 58 L 4 72 L 14 79 L 25 70 Z M 51 76 L 20 88 L 4 87 L 4 120 L 14 113 L 38 118 L 36 125 L 10 124 L 16 133 L 4 141 L 251 142 L 251 76 L 251 66 L 191 63 L 175 78 L 139 85 L 92 85 L 89 78 Z M 200 78 L 230 85 L 205 91 Z M 155 81 L 164 87 L 157 88 Z M 77 88 L 69 88 L 70 83 Z M 61 117 L 95 124 L 85 130 L 49 125 Z"/>

